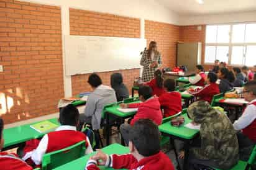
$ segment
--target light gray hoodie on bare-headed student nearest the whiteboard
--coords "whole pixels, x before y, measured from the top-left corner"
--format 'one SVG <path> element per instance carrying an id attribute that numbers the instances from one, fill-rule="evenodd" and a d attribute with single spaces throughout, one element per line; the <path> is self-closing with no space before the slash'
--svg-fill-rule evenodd
<path id="1" fill-rule="evenodd" d="M 114 89 L 109 86 L 98 86 L 88 97 L 85 107 L 85 116 L 92 117 L 93 130 L 101 128 L 101 114 L 104 106 L 117 102 Z"/>

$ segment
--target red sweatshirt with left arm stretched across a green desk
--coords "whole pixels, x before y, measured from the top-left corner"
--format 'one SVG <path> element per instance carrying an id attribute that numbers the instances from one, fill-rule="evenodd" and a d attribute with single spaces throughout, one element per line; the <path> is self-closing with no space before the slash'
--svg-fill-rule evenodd
<path id="1" fill-rule="evenodd" d="M 150 119 L 157 125 L 161 125 L 162 123 L 163 115 L 160 110 L 158 97 L 152 97 L 143 103 L 129 104 L 129 108 L 139 108 L 130 125 L 134 125 L 140 119 Z"/>

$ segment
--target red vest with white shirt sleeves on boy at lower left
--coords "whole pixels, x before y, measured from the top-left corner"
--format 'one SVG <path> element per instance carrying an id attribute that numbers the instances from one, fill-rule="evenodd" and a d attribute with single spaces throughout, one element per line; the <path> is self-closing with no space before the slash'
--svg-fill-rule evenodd
<path id="1" fill-rule="evenodd" d="M 29 164 L 39 165 L 42 163 L 43 154 L 61 150 L 85 140 L 86 154 L 93 152 L 88 137 L 76 131 L 76 127 L 62 125 L 55 132 L 44 135 L 42 140 L 30 140 L 26 142 L 23 160 Z"/>

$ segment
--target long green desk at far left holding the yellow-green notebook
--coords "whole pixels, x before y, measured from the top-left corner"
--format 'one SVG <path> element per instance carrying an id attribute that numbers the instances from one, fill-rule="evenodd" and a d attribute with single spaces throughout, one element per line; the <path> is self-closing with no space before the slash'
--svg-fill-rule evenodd
<path id="1" fill-rule="evenodd" d="M 50 119 L 49 121 L 52 123 L 58 124 L 57 118 Z M 39 121 L 39 122 L 42 122 L 42 121 Z M 39 122 L 34 122 L 34 123 L 39 123 Z M 3 134 L 4 134 L 3 150 L 16 148 L 17 146 L 21 145 L 21 143 L 24 143 L 25 141 L 28 141 L 31 139 L 42 138 L 42 136 L 45 135 L 45 133 L 39 133 L 36 130 L 29 127 L 34 123 L 4 129 L 3 130 Z"/>

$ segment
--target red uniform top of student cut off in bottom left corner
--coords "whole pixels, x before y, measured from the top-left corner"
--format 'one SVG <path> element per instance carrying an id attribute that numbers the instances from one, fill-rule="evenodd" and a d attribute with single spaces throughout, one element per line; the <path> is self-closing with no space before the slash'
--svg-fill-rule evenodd
<path id="1" fill-rule="evenodd" d="M 0 169 L 1 170 L 32 170 L 25 161 L 23 161 L 17 154 L 0 152 Z"/>

